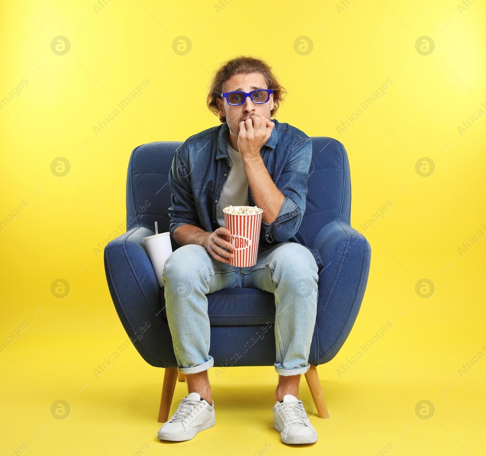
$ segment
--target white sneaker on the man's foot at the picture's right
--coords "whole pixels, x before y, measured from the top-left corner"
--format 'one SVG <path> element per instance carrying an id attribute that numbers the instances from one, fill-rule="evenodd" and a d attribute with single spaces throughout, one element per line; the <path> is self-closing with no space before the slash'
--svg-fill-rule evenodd
<path id="1" fill-rule="evenodd" d="M 274 407 L 274 427 L 283 443 L 314 443 L 317 432 L 312 426 L 302 401 L 292 394 L 283 396 L 283 402 Z"/>

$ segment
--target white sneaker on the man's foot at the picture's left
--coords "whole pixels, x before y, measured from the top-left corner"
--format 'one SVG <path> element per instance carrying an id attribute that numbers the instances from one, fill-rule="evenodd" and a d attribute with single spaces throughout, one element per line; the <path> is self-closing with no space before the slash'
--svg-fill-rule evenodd
<path id="1" fill-rule="evenodd" d="M 171 419 L 158 431 L 160 440 L 191 440 L 200 431 L 214 426 L 216 417 L 213 405 L 202 399 L 199 393 L 189 393 L 182 399 Z"/>

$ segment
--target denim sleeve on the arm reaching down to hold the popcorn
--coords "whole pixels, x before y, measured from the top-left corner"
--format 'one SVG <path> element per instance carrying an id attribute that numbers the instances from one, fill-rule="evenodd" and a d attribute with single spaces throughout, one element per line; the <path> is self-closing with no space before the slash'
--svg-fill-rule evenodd
<path id="1" fill-rule="evenodd" d="M 174 153 L 172 166 L 169 170 L 169 187 L 171 189 L 171 203 L 169 207 L 169 231 L 174 236 L 174 231 L 181 225 L 196 225 L 201 227 L 197 213 L 194 195 L 191 187 L 191 169 L 186 166 L 189 163 L 184 160 L 187 155 L 186 146 L 183 144 Z"/>

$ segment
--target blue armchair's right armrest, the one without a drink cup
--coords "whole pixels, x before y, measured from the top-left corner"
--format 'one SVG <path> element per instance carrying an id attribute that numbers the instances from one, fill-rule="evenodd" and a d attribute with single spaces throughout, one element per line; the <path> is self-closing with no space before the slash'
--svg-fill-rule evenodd
<path id="1" fill-rule="evenodd" d="M 368 281 L 371 246 L 342 220 L 325 225 L 312 244 L 323 261 L 317 303 L 319 364 L 330 361 L 344 344 L 358 316 Z"/>

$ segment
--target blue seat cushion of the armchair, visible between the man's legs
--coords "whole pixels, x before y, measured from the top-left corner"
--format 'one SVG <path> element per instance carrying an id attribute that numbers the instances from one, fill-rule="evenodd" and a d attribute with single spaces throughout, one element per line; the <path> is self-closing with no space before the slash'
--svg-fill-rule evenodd
<path id="1" fill-rule="evenodd" d="M 275 296 L 257 288 L 226 288 L 207 295 L 211 326 L 275 323 Z M 160 302 L 165 304 L 164 288 Z M 162 313 L 167 319 L 165 305 Z"/>

